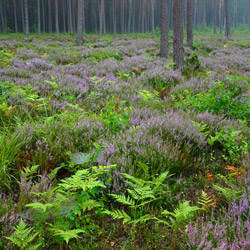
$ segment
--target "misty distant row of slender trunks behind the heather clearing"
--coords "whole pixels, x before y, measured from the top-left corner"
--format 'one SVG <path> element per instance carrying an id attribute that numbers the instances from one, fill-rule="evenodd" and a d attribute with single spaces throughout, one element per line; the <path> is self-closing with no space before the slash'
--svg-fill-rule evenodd
<path id="1" fill-rule="evenodd" d="M 182 0 L 183 25 L 187 22 L 187 3 Z M 213 26 L 222 33 L 229 1 L 231 26 L 249 25 L 250 0 L 192 0 L 193 27 Z M 174 0 L 167 1 L 167 25 L 173 28 Z M 165 8 L 163 6 L 163 8 Z M 86 33 L 152 32 L 161 26 L 160 0 L 1 0 L 0 32 Z M 80 18 L 78 18 L 78 16 Z M 79 19 L 81 25 L 79 26 Z"/>

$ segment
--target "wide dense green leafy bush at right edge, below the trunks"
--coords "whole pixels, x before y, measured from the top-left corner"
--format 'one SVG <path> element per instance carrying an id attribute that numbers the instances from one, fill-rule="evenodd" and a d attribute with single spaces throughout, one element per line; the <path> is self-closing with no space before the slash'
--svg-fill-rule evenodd
<path id="1" fill-rule="evenodd" d="M 185 98 L 177 102 L 177 106 L 193 109 L 198 112 L 209 111 L 213 114 L 223 114 L 225 117 L 250 120 L 248 105 L 249 89 L 247 77 L 227 77 L 225 82 L 215 82 L 205 93 L 193 94 L 188 92 Z"/>

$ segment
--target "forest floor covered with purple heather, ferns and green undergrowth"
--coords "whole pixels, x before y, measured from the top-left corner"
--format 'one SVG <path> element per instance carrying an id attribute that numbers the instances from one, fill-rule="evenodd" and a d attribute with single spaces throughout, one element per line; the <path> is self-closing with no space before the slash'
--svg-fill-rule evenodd
<path id="1" fill-rule="evenodd" d="M 159 44 L 1 35 L 0 249 L 250 249 L 250 35 Z"/>

